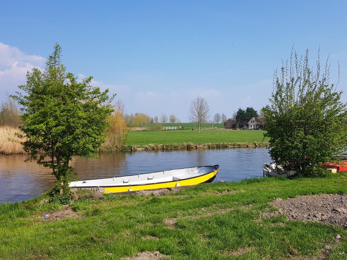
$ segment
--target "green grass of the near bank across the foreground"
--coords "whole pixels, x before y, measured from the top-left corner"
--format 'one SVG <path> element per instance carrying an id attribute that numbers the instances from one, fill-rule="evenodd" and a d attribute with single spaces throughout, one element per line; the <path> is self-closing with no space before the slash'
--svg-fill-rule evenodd
<path id="1" fill-rule="evenodd" d="M 47 222 L 62 208 L 43 197 L 0 205 L 0 259 L 120 259 L 160 251 L 170 259 L 313 259 L 332 245 L 329 259 L 347 258 L 346 230 L 287 221 L 274 198 L 347 193 L 346 175 L 324 179 L 251 179 L 201 184 L 161 197 L 107 195 L 71 202 L 79 218 Z M 40 202 L 41 201 L 41 202 Z M 321 259 L 321 258 L 319 258 Z"/>

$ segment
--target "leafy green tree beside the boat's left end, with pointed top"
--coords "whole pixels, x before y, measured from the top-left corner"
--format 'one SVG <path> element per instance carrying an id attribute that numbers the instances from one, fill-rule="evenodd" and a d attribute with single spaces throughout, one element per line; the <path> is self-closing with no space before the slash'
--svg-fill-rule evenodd
<path id="1" fill-rule="evenodd" d="M 52 169 L 57 182 L 51 194 L 66 193 L 73 167 L 73 156 L 95 155 L 105 138 L 107 118 L 113 109 L 109 90 L 90 85 L 92 77 L 77 80 L 61 63 L 61 47 L 54 45 L 43 72 L 27 72 L 23 93 L 13 96 L 23 106 L 20 127 L 25 138 L 28 160 Z"/>

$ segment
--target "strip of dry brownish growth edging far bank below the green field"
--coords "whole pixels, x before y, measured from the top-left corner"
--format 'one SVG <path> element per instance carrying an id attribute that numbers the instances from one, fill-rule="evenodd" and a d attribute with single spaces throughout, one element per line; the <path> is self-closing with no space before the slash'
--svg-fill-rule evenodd
<path id="1" fill-rule="evenodd" d="M 99 151 L 112 152 L 112 151 L 135 151 L 135 150 L 191 150 L 191 149 L 218 149 L 218 148 L 247 148 L 247 147 L 268 147 L 269 142 L 208 142 L 208 143 L 193 143 L 184 142 L 178 144 L 148 144 L 148 145 L 127 145 L 123 147 L 107 147 L 99 148 Z"/>

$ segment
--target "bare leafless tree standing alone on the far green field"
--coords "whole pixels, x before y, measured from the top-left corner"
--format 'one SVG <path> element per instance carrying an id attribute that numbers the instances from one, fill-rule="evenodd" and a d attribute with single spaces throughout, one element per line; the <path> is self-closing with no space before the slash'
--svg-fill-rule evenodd
<path id="1" fill-rule="evenodd" d="M 210 118 L 210 107 L 205 98 L 197 96 L 191 102 L 188 119 L 198 123 L 198 133 L 201 132 L 201 125 Z"/>

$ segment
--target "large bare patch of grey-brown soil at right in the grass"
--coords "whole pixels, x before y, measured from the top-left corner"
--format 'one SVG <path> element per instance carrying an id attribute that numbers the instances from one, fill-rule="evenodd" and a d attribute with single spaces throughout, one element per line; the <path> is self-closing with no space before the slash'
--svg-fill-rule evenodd
<path id="1" fill-rule="evenodd" d="M 347 227 L 347 195 L 321 194 L 297 196 L 287 200 L 276 199 L 270 203 L 278 211 L 264 213 L 262 218 L 285 214 L 288 220 L 316 221 Z"/>

